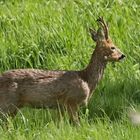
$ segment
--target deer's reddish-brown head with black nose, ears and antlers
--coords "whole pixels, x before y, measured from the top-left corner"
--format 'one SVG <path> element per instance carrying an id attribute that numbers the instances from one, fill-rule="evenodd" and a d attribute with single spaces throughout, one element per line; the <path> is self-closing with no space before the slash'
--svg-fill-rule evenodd
<path id="1" fill-rule="evenodd" d="M 97 19 L 98 30 L 90 29 L 91 37 L 96 42 L 95 50 L 99 51 L 101 58 L 105 61 L 119 61 L 125 55 L 113 44 L 109 38 L 108 26 L 102 17 Z"/>

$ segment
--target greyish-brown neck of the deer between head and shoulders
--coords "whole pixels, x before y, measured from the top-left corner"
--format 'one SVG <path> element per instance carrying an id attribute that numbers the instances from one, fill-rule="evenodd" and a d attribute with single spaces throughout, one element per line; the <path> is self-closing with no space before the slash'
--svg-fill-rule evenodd
<path id="1" fill-rule="evenodd" d="M 88 66 L 81 71 L 81 76 L 88 83 L 91 93 L 95 90 L 96 85 L 101 80 L 107 64 L 103 56 L 100 56 L 100 54 L 101 53 L 96 48 Z"/>

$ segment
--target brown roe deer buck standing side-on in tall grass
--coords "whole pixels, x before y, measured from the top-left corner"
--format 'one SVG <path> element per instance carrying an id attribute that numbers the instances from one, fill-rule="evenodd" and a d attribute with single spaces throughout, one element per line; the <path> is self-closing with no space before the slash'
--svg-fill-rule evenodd
<path id="1" fill-rule="evenodd" d="M 70 119 L 78 122 L 77 110 L 87 104 L 109 61 L 125 57 L 108 36 L 103 18 L 97 31 L 90 29 L 96 48 L 87 67 L 81 71 L 38 69 L 10 70 L 0 75 L 0 112 L 16 115 L 18 108 L 66 107 Z"/>

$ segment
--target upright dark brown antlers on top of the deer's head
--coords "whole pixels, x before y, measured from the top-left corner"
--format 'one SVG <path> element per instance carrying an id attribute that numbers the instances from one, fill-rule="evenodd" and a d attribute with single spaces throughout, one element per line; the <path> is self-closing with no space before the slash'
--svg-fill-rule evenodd
<path id="1" fill-rule="evenodd" d="M 101 26 L 103 27 L 103 30 L 104 30 L 104 33 L 105 33 L 105 38 L 106 40 L 108 39 L 108 26 L 107 24 L 105 23 L 103 17 L 99 17 L 97 19 L 97 21 L 101 24 Z"/>

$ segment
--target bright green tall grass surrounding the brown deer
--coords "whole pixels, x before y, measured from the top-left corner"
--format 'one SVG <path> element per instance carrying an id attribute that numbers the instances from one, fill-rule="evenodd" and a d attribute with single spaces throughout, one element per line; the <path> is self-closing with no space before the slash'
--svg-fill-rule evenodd
<path id="1" fill-rule="evenodd" d="M 139 0 L 1 0 L 0 71 L 83 69 L 94 49 L 88 28 L 97 28 L 99 15 L 127 58 L 108 65 L 88 109 L 81 109 L 81 126 L 58 123 L 55 111 L 25 108 L 9 118 L 8 130 L 0 127 L 1 140 L 140 139 L 127 115 L 140 108 Z"/>

